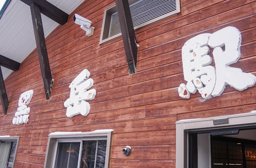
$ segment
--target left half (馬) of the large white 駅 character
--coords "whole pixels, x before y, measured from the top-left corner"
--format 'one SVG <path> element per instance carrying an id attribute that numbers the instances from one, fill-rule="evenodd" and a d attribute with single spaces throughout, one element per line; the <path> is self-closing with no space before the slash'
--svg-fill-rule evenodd
<path id="1" fill-rule="evenodd" d="M 208 39 L 210 33 L 204 33 L 188 40 L 182 47 L 182 63 L 184 79 L 188 82 L 181 84 L 179 95 L 182 98 L 190 98 L 190 93 L 196 93 L 196 89 L 203 98 L 208 99 L 212 94 L 215 84 L 215 69 L 210 66 L 212 58 L 208 55 Z M 204 84 L 204 86 L 203 86 Z M 187 89 L 187 90 L 186 90 Z"/>

